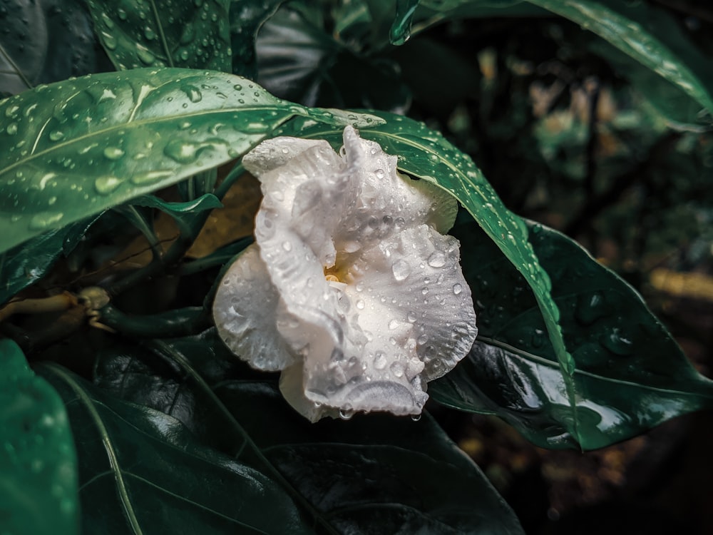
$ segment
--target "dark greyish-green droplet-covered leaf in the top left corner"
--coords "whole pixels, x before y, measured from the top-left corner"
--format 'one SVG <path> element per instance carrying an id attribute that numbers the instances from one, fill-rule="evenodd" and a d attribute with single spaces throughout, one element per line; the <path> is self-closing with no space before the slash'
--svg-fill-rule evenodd
<path id="1" fill-rule="evenodd" d="M 0 25 L 0 96 L 96 69 L 81 0 L 1 0 Z"/>

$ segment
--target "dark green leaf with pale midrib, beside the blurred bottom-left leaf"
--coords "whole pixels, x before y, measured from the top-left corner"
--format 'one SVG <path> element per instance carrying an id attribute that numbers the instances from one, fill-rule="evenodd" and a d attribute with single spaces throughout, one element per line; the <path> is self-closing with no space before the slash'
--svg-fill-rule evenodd
<path id="1" fill-rule="evenodd" d="M 84 533 L 313 533 L 275 481 L 200 444 L 177 419 L 58 365 L 40 372 L 76 437 Z"/>

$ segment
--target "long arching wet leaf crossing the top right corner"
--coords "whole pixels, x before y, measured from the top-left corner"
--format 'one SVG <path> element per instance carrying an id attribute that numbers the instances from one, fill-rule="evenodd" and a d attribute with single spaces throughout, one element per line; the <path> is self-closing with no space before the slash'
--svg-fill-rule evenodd
<path id="1" fill-rule="evenodd" d="M 710 60 L 665 10 L 646 2 L 620 0 L 528 1 L 593 31 L 713 113 Z"/>

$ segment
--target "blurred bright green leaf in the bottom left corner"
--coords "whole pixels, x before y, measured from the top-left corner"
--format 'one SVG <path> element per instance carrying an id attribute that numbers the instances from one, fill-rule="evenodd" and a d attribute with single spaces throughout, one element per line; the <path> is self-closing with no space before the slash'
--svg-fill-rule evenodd
<path id="1" fill-rule="evenodd" d="M 57 392 L 0 340 L 0 524 L 4 533 L 79 533 L 76 453 Z"/>

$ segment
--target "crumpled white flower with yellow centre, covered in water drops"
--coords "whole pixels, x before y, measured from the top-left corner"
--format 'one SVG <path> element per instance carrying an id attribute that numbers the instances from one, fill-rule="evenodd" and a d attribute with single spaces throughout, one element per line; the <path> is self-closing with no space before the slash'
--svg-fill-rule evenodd
<path id="1" fill-rule="evenodd" d="M 457 205 L 396 157 L 344 129 L 327 141 L 275 138 L 243 159 L 260 178 L 256 242 L 215 297 L 220 337 L 313 422 L 356 411 L 420 414 L 426 382 L 471 349 L 476 315 L 442 235 Z"/>

